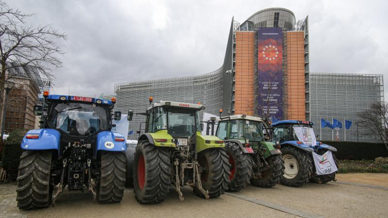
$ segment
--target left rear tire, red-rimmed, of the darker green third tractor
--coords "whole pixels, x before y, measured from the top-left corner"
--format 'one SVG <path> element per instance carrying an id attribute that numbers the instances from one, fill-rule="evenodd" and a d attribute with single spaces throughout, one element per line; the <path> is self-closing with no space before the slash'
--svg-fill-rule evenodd
<path id="1" fill-rule="evenodd" d="M 225 143 L 226 154 L 229 156 L 230 164 L 230 183 L 226 191 L 239 191 L 245 187 L 246 181 L 249 180 L 248 154 L 244 154 L 237 143 Z"/>

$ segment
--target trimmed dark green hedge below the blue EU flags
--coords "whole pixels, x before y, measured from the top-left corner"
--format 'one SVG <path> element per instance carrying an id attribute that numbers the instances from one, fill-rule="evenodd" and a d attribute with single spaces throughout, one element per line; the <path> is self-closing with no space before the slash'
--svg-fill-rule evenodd
<path id="1" fill-rule="evenodd" d="M 387 148 L 383 143 L 356 141 L 322 141 L 322 143 L 337 148 L 336 156 L 342 160 L 374 160 L 379 156 L 388 156 Z"/>

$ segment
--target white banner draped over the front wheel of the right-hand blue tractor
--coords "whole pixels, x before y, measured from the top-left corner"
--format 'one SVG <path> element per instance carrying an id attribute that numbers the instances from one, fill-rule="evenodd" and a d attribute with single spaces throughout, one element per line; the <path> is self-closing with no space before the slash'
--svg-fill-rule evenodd
<path id="1" fill-rule="evenodd" d="M 338 171 L 330 150 L 323 155 L 318 155 L 313 152 L 312 156 L 314 158 L 315 169 L 318 175 L 330 174 Z"/>

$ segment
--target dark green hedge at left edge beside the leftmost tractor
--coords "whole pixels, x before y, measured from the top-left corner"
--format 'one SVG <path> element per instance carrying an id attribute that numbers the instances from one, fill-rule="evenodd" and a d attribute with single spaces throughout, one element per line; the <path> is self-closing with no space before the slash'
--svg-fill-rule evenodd
<path id="1" fill-rule="evenodd" d="M 20 143 L 25 134 L 25 130 L 17 129 L 11 132 L 4 141 L 2 165 L 3 169 L 7 172 L 6 180 L 8 182 L 16 181 L 17 168 L 19 167 L 20 156 L 22 153 Z"/>

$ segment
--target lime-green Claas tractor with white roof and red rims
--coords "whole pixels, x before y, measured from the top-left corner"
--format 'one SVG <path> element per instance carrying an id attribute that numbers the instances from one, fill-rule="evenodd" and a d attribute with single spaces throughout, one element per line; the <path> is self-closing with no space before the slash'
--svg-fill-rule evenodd
<path id="1" fill-rule="evenodd" d="M 152 98 L 150 97 L 150 103 Z M 209 199 L 224 194 L 229 162 L 223 140 L 202 136 L 200 104 L 161 101 L 146 110 L 145 133 L 139 137 L 133 162 L 133 186 L 141 204 L 163 202 L 172 186 L 194 188 Z M 133 112 L 129 110 L 128 119 Z"/>

